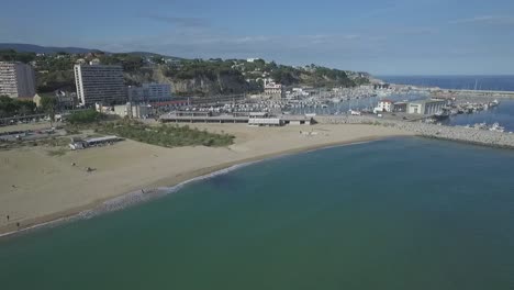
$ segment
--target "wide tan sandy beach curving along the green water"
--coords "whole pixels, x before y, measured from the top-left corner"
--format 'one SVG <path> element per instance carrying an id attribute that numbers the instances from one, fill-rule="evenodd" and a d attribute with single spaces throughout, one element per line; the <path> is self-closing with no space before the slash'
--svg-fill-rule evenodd
<path id="1" fill-rule="evenodd" d="M 195 124 L 236 136 L 224 148 L 164 148 L 134 141 L 49 156 L 49 148 L 0 152 L 0 233 L 77 214 L 128 192 L 170 187 L 230 166 L 355 142 L 412 135 L 372 125 L 250 127 Z M 75 165 L 74 165 L 75 164 Z M 87 167 L 93 169 L 88 172 Z M 7 216 L 9 215 L 9 221 Z"/>

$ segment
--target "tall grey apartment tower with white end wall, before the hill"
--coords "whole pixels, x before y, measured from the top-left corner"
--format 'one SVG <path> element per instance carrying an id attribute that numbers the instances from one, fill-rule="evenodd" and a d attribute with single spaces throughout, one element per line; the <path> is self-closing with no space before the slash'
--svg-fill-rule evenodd
<path id="1" fill-rule="evenodd" d="M 75 65 L 77 98 L 82 105 L 126 103 L 121 66 Z"/>

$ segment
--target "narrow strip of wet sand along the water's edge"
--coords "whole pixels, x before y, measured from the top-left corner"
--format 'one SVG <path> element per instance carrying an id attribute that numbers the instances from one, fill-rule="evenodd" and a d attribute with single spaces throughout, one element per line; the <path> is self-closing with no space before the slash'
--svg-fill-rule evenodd
<path id="1" fill-rule="evenodd" d="M 365 144 L 369 142 L 377 142 L 388 138 L 395 138 L 395 137 L 405 137 L 409 135 L 405 134 L 398 134 L 398 135 L 389 135 L 389 136 L 366 136 L 366 137 L 358 137 L 350 141 L 339 141 L 339 142 L 329 142 L 325 144 L 305 146 L 300 148 L 292 148 L 270 154 L 264 154 L 259 156 L 254 156 L 246 159 L 228 161 L 215 166 L 210 166 L 205 168 L 201 168 L 193 171 L 182 172 L 175 177 L 168 177 L 164 179 L 159 179 L 149 188 L 142 188 L 145 193 L 141 191 L 131 191 L 124 192 L 122 194 L 100 199 L 92 203 L 77 207 L 72 209 L 68 209 L 65 211 L 56 212 L 53 214 L 38 216 L 34 219 L 30 219 L 23 222 L 23 226 L 19 230 L 15 228 L 15 225 L 8 225 L 0 227 L 0 239 L 9 238 L 21 234 L 26 234 L 31 231 L 35 231 L 38 228 L 51 227 L 51 226 L 58 226 L 64 223 L 74 222 L 78 220 L 87 220 L 97 215 L 101 215 L 109 212 L 115 212 L 119 210 L 124 210 L 126 208 L 131 208 L 137 204 L 142 204 L 147 201 L 152 201 L 167 194 L 171 194 L 177 190 L 180 190 L 183 186 L 187 186 L 191 182 L 200 181 L 203 179 L 208 179 L 211 177 L 215 177 L 217 175 L 223 175 L 233 170 L 237 170 L 242 167 L 246 167 L 256 163 L 266 161 L 273 158 L 309 153 L 320 149 L 327 149 L 332 147 L 339 147 L 339 146 L 349 146 L 349 145 L 357 145 L 357 144 Z M 13 228 L 14 227 L 14 228 Z"/>

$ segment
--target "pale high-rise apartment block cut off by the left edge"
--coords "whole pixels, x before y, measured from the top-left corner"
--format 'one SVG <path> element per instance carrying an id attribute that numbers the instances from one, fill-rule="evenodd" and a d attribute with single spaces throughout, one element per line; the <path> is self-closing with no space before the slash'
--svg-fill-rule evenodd
<path id="1" fill-rule="evenodd" d="M 22 63 L 0 62 L 0 96 L 33 98 L 35 96 L 34 68 Z"/>

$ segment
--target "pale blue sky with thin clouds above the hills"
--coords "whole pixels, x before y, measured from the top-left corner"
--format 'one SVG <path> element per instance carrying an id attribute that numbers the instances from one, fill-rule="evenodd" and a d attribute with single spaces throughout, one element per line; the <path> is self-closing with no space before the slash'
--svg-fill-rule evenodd
<path id="1" fill-rule="evenodd" d="M 21 4 L 23 3 L 23 4 Z M 513 0 L 25 0 L 0 43 L 259 57 L 373 75 L 514 75 Z"/>

